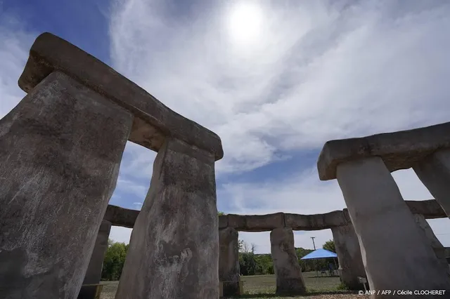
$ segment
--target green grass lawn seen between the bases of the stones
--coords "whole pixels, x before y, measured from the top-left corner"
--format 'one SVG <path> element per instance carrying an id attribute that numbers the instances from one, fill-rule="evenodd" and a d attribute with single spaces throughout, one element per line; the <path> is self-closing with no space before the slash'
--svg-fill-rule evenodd
<path id="1" fill-rule="evenodd" d="M 358 295 L 349 291 L 339 290 L 339 277 L 316 277 L 316 272 L 302 273 L 304 283 L 307 286 L 308 294 L 304 296 L 285 297 L 275 295 L 275 275 L 255 275 L 248 277 L 240 277 L 244 281 L 245 295 L 240 298 L 276 298 L 276 299 L 293 299 L 293 298 L 307 298 L 307 299 L 331 299 L 331 298 L 368 298 L 368 296 Z M 114 299 L 117 291 L 118 281 L 103 281 L 103 291 L 101 299 Z"/>

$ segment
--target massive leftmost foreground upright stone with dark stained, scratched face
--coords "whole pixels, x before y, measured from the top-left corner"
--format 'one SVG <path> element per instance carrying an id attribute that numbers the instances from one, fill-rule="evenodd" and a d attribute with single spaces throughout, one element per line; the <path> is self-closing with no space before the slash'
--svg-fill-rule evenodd
<path id="1" fill-rule="evenodd" d="M 0 298 L 77 297 L 132 121 L 60 72 L 1 119 Z"/>

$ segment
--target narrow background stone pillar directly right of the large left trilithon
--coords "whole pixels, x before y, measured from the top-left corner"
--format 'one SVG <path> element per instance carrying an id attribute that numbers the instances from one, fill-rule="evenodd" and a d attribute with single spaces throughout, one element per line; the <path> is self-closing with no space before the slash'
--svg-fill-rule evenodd
<path id="1" fill-rule="evenodd" d="M 224 296 L 239 294 L 238 231 L 232 227 L 219 230 L 219 281 L 224 281 Z"/>

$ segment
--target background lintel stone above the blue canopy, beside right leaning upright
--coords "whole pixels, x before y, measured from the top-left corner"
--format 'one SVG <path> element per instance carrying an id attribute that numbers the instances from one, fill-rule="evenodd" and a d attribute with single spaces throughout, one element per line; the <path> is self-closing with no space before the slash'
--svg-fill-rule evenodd
<path id="1" fill-rule="evenodd" d="M 342 211 L 333 211 L 325 214 L 299 215 L 284 214 L 286 227 L 293 230 L 326 230 L 331 227 L 346 225 Z"/>

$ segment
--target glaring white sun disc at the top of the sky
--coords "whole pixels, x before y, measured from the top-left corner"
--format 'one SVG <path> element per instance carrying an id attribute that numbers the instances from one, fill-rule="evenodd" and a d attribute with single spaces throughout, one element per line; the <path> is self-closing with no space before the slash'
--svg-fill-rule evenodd
<path id="1" fill-rule="evenodd" d="M 262 34 L 262 8 L 250 1 L 236 4 L 229 17 L 229 30 L 233 39 L 240 43 L 257 41 Z"/>

